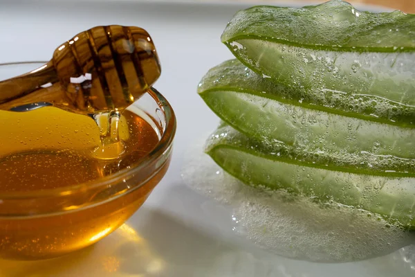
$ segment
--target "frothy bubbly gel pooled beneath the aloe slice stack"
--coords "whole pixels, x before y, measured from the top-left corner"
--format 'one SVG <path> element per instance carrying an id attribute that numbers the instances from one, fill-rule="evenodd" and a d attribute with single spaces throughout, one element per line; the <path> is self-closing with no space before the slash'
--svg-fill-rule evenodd
<path id="1" fill-rule="evenodd" d="M 349 262 L 415 242 L 413 235 L 367 211 L 246 186 L 204 154 L 203 143 L 188 150 L 182 177 L 190 188 L 232 207 L 238 236 L 288 258 Z"/>

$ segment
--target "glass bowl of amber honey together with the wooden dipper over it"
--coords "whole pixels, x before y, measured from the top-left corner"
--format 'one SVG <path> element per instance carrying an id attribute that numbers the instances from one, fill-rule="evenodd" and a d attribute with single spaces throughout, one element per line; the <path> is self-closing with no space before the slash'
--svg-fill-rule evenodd
<path id="1" fill-rule="evenodd" d="M 176 128 L 151 87 L 159 75 L 149 34 L 113 25 L 75 35 L 39 69 L 0 82 L 0 258 L 81 249 L 142 205 L 169 166 Z M 167 116 L 131 106 L 146 96 Z"/>

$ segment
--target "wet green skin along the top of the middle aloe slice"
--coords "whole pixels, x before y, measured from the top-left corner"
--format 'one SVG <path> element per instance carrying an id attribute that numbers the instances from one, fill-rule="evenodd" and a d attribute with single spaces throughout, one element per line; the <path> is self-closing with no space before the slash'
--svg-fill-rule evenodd
<path id="1" fill-rule="evenodd" d="M 258 75 L 238 60 L 228 60 L 210 69 L 201 80 L 198 91 L 200 93 L 217 87 L 257 91 L 266 93 L 268 98 L 293 105 L 401 127 L 415 127 L 415 107 L 374 96 L 356 97 L 346 93 L 315 93 L 293 89 Z"/>

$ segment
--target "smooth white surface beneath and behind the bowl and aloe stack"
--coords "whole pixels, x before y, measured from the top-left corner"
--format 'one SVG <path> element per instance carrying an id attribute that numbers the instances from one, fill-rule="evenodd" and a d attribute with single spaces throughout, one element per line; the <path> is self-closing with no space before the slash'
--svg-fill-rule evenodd
<path id="1" fill-rule="evenodd" d="M 180 171 L 188 146 L 218 122 L 197 96 L 196 85 L 210 67 L 232 58 L 220 35 L 234 12 L 252 3 L 138 2 L 0 3 L 0 62 L 49 60 L 59 43 L 92 26 L 145 28 L 163 66 L 155 87 L 171 102 L 178 120 L 172 165 L 128 225 L 63 258 L 0 261 L 0 276 L 414 276 L 415 269 L 399 253 L 318 264 L 275 256 L 233 239 L 228 208 L 187 188 Z"/>

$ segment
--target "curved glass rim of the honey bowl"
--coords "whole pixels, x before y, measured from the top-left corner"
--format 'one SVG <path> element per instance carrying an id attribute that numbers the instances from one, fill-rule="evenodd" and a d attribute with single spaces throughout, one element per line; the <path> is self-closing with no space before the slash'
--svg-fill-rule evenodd
<path id="1" fill-rule="evenodd" d="M 47 62 L 44 61 L 24 61 L 24 62 L 2 62 L 0 63 L 0 67 L 2 66 L 14 66 L 18 64 L 46 64 Z M 7 79 L 5 79 L 7 80 Z M 3 80 L 0 80 L 3 82 Z M 149 93 L 151 98 L 157 102 L 157 105 L 163 111 L 165 116 L 165 128 L 163 133 L 161 134 L 160 140 L 156 144 L 156 146 L 148 152 L 144 157 L 139 159 L 138 161 L 131 163 L 130 168 L 123 168 L 122 170 L 116 172 L 113 175 L 109 175 L 106 177 L 102 177 L 100 179 L 94 179 L 93 181 L 83 182 L 80 184 L 75 184 L 72 186 L 64 186 L 62 188 L 51 188 L 45 190 L 35 190 L 30 192 L 8 192 L 8 193 L 0 193 L 0 199 L 39 199 L 39 198 L 46 198 L 46 197 L 62 197 L 68 195 L 75 195 L 76 193 L 85 192 L 86 190 L 92 190 L 95 188 L 109 186 L 111 184 L 117 183 L 118 181 L 122 181 L 122 179 L 127 179 L 129 176 L 137 174 L 140 172 L 142 168 L 145 168 L 149 163 L 160 159 L 163 155 L 172 147 L 173 139 L 176 134 L 176 116 L 174 114 L 172 106 L 169 104 L 167 99 L 154 87 L 150 87 Z M 133 105 L 133 104 L 132 104 Z M 163 168 L 165 163 L 158 165 L 156 171 L 153 172 L 151 176 L 154 176 L 161 168 Z M 142 181 L 141 184 L 137 184 L 136 186 L 131 186 L 129 190 L 122 193 L 129 193 L 131 190 L 135 190 L 140 186 L 144 185 L 146 181 Z"/>

